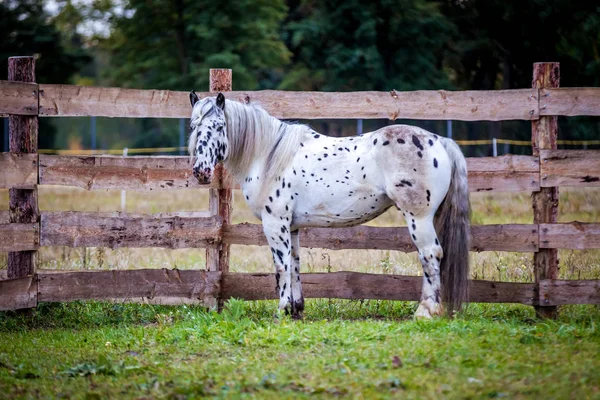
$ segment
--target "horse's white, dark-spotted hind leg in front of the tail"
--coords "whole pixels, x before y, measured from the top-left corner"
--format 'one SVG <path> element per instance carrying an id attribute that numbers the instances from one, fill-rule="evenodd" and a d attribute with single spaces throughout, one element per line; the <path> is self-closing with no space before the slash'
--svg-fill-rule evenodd
<path id="1" fill-rule="evenodd" d="M 410 236 L 419 251 L 419 261 L 423 265 L 423 291 L 421 303 L 415 312 L 417 318 L 431 318 L 441 315 L 440 263 L 444 252 L 433 226 L 433 216 L 415 218 L 404 214 Z"/>

